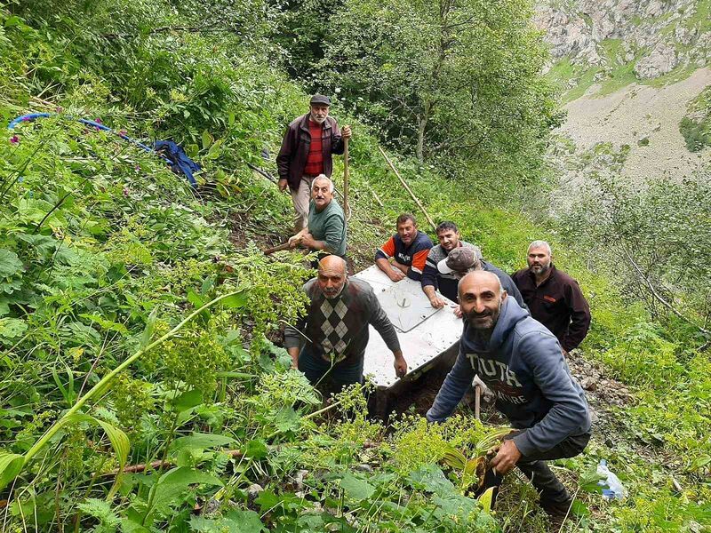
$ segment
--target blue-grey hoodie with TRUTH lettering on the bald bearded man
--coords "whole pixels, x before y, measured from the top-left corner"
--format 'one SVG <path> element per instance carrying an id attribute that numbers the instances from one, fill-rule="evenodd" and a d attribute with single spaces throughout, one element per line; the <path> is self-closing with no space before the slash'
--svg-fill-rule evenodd
<path id="1" fill-rule="evenodd" d="M 513 439 L 524 457 L 590 430 L 585 394 L 572 378 L 558 340 L 514 298 L 504 300 L 488 343 L 477 342 L 464 321 L 457 362 L 427 411 L 427 420 L 449 417 L 475 374 L 491 389 L 497 409 L 511 425 L 528 428 Z"/>

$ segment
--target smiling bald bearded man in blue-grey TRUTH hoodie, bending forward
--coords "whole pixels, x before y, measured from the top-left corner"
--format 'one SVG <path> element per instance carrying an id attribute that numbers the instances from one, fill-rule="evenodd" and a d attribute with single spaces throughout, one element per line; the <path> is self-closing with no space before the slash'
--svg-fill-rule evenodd
<path id="1" fill-rule="evenodd" d="M 498 487 L 517 466 L 539 491 L 540 505 L 564 516 L 571 497 L 545 461 L 578 455 L 590 439 L 590 413 L 555 336 L 514 298 L 495 274 L 477 271 L 459 282 L 464 331 L 459 356 L 427 420 L 440 422 L 457 407 L 475 374 L 491 389 L 496 408 L 515 431 L 491 459 L 484 489 Z"/>

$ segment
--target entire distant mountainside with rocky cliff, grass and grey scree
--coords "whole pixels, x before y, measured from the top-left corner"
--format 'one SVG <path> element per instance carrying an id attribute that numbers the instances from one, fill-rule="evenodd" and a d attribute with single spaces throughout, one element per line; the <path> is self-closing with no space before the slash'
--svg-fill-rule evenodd
<path id="1" fill-rule="evenodd" d="M 708 179 L 711 0 L 549 0 L 536 13 L 567 112 L 552 211 L 593 173 Z"/>

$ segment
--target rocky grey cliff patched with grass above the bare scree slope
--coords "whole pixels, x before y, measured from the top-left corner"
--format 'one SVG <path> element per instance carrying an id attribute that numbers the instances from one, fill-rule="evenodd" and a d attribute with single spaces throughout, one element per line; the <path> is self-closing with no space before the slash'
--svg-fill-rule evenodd
<path id="1" fill-rule="evenodd" d="M 596 68 L 598 80 L 623 65 L 645 80 L 711 60 L 709 0 L 554 0 L 536 24 L 555 60 Z"/>

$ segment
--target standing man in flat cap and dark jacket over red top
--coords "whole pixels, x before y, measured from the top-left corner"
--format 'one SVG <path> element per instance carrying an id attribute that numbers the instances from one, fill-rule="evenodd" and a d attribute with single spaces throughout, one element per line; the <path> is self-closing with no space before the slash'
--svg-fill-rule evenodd
<path id="1" fill-rule="evenodd" d="M 284 191 L 289 187 L 292 194 L 296 211 L 295 232 L 300 232 L 308 224 L 311 182 L 320 174 L 331 178 L 332 154 L 343 154 L 343 139 L 351 136 L 350 126 L 343 126 L 341 132 L 336 119 L 328 115 L 331 99 L 315 94 L 310 105 L 306 115 L 289 124 L 282 148 L 276 155 L 279 188 Z"/>

